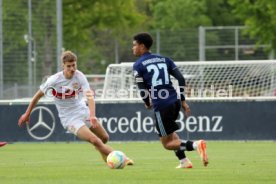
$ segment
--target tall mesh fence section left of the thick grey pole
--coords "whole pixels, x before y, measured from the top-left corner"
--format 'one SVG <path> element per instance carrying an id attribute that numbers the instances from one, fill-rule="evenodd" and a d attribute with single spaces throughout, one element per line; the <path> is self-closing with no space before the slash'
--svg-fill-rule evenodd
<path id="1" fill-rule="evenodd" d="M 0 0 L 0 99 L 29 97 L 56 72 L 60 3 Z"/>

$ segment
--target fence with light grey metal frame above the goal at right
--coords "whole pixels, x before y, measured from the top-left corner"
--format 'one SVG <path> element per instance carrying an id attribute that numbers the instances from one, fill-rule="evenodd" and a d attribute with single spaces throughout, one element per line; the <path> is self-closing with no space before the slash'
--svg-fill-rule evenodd
<path id="1" fill-rule="evenodd" d="M 268 45 L 258 45 L 246 34 L 244 26 L 199 27 L 199 60 L 274 59 Z"/>

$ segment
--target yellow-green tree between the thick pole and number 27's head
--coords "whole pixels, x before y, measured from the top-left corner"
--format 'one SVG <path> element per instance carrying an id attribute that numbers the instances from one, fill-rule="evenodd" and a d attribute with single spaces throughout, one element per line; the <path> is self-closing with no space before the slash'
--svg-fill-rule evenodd
<path id="1" fill-rule="evenodd" d="M 63 1 L 64 46 L 78 53 L 84 72 L 104 72 L 107 64 L 114 63 L 116 41 L 125 39 L 125 35 L 146 20 L 135 3 L 133 0 Z M 103 43 L 104 39 L 108 43 Z"/>

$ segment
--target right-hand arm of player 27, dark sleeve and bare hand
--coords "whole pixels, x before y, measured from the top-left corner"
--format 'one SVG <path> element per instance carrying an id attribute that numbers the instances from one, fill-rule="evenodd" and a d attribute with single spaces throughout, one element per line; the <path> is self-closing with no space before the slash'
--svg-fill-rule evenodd
<path id="1" fill-rule="evenodd" d="M 171 75 L 174 76 L 178 81 L 181 105 L 182 105 L 182 108 L 184 109 L 185 115 L 188 117 L 191 115 L 191 110 L 185 99 L 185 89 L 184 89 L 184 87 L 186 86 L 185 78 L 178 70 L 178 68 L 174 68 L 171 72 Z"/>

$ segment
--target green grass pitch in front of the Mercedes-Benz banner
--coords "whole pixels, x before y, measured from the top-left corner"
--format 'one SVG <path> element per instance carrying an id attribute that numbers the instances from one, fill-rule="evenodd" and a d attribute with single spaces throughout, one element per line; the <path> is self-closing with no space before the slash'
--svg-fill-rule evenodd
<path id="1" fill-rule="evenodd" d="M 134 166 L 109 169 L 88 143 L 15 143 L 0 148 L 1 184 L 275 184 L 276 143 L 208 141 L 210 165 L 188 152 L 193 169 L 175 169 L 159 142 L 109 143 Z"/>

